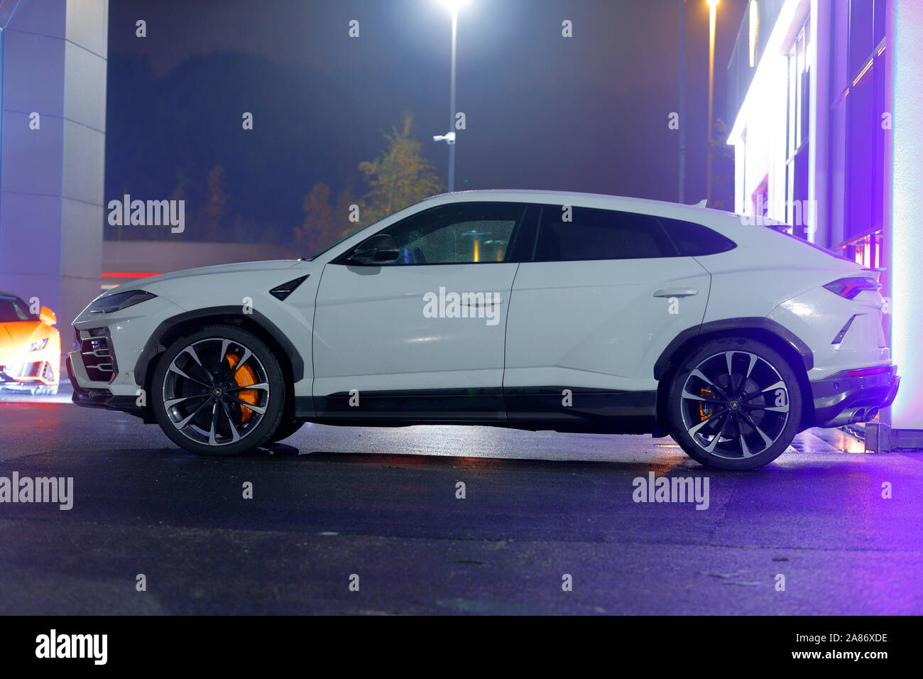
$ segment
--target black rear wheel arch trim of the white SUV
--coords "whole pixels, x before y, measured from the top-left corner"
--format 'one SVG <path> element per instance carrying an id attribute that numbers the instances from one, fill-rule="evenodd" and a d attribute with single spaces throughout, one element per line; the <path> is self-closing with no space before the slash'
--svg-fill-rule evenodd
<path id="1" fill-rule="evenodd" d="M 811 398 L 808 370 L 814 367 L 814 353 L 795 333 L 784 325 L 764 317 L 745 317 L 711 321 L 679 333 L 666 346 L 653 366 L 657 382 L 657 426 L 659 432 L 668 430 L 666 406 L 667 394 L 683 358 L 713 339 L 740 336 L 757 340 L 772 347 L 795 370 L 798 388 L 802 395 L 801 429 L 808 429 L 814 421 L 814 403 Z"/>

